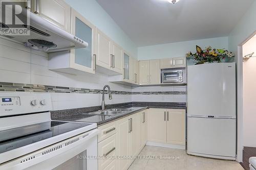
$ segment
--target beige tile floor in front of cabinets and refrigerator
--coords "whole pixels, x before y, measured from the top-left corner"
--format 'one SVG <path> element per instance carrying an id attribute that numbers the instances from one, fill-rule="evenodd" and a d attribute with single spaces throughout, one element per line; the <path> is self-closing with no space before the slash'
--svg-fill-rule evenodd
<path id="1" fill-rule="evenodd" d="M 184 150 L 145 146 L 139 156 L 176 156 L 179 159 L 136 159 L 129 170 L 243 170 L 236 161 L 187 155 Z"/>

